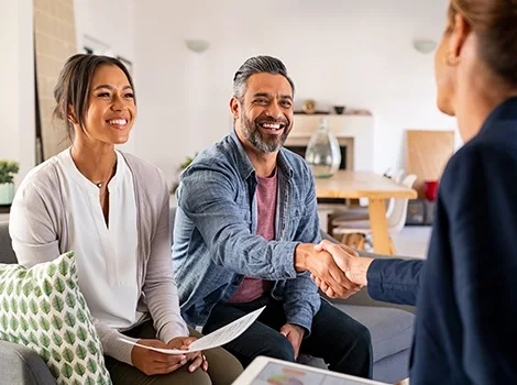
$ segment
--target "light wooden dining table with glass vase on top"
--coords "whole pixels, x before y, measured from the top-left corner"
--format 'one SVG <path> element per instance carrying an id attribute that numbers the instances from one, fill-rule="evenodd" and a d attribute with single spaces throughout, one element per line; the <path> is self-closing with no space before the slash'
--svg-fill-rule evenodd
<path id="1" fill-rule="evenodd" d="M 386 199 L 417 198 L 417 191 L 373 172 L 338 170 L 329 178 L 315 178 L 318 198 L 369 199 L 373 249 L 378 254 L 395 254 L 388 234 Z"/>

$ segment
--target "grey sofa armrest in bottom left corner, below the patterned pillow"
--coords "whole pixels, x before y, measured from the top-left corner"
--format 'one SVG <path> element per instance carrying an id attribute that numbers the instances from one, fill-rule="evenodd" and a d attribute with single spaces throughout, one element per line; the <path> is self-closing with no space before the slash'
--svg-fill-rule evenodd
<path id="1" fill-rule="evenodd" d="M 0 341 L 0 383 L 56 385 L 46 363 L 29 348 Z"/>

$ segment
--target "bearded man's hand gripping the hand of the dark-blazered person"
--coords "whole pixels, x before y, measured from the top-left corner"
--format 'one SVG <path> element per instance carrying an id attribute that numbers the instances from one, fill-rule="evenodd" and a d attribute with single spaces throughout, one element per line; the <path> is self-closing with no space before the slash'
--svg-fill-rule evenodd
<path id="1" fill-rule="evenodd" d="M 309 271 L 315 277 L 326 283 L 337 297 L 348 298 L 361 287 L 350 282 L 327 251 L 316 249 L 311 243 L 300 243 L 295 250 L 297 272 Z"/>

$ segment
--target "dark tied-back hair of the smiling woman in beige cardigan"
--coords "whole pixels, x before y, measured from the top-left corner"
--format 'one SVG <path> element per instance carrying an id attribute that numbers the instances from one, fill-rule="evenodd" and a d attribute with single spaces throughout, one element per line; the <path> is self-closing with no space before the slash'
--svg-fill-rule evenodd
<path id="1" fill-rule="evenodd" d="M 69 121 L 72 109 L 75 112 L 77 123 L 80 128 L 84 128 L 91 78 L 97 67 L 102 65 L 117 66 L 122 69 L 134 92 L 133 78 L 128 68 L 119 59 L 86 54 L 77 54 L 69 57 L 63 66 L 57 85 L 54 88 L 54 99 L 57 106 L 54 109 L 53 118 L 65 123 L 70 141 L 74 138 L 74 125 Z M 136 103 L 136 99 L 134 100 Z"/>

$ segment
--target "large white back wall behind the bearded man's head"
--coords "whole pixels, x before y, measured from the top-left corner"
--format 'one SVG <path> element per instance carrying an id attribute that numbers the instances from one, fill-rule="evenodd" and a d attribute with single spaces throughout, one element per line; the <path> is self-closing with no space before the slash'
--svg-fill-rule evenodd
<path id="1" fill-rule="evenodd" d="M 252 55 L 284 61 L 297 103 L 366 108 L 375 117 L 375 169 L 403 164 L 405 129 L 454 129 L 435 101 L 432 54 L 413 38 L 439 40 L 447 0 L 238 0 L 135 3 L 140 119 L 135 152 L 168 179 L 185 156 L 231 130 L 228 101 Z M 202 54 L 185 38 L 211 42 Z"/>

